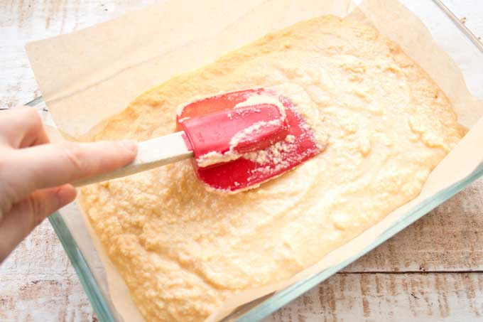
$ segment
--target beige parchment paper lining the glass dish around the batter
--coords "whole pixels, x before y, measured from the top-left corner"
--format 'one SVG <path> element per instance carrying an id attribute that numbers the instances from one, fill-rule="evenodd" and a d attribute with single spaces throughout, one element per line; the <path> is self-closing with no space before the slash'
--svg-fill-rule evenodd
<path id="1" fill-rule="evenodd" d="M 418 198 L 292 279 L 234 296 L 209 321 L 356 256 L 388 227 L 403 220 L 408 210 L 465 178 L 483 161 L 482 101 L 470 95 L 457 65 L 435 45 L 423 23 L 396 0 L 367 0 L 358 7 L 350 0 L 178 0 L 27 45 L 38 85 L 58 128 L 71 139 L 85 139 L 96 124 L 174 75 L 210 63 L 270 31 L 325 14 L 351 14 L 401 45 L 445 91 L 460 123 L 470 132 L 430 174 Z M 72 235 L 83 253 L 89 252 L 92 241 L 96 245 L 111 299 L 124 321 L 142 321 L 124 281 L 92 235 L 87 220 L 86 225 L 91 237 L 75 232 L 85 232 L 80 223 L 70 224 Z"/>

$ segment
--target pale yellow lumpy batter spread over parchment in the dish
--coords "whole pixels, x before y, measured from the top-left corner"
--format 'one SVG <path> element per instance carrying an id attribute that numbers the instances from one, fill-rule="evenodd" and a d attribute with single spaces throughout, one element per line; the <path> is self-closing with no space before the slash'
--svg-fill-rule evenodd
<path id="1" fill-rule="evenodd" d="M 147 321 L 200 321 L 232 294 L 318 262 L 415 198 L 463 135 L 445 94 L 398 45 L 325 16 L 144 93 L 93 139 L 168 134 L 193 97 L 276 85 L 302 88 L 315 106 L 305 117 L 328 134 L 325 151 L 294 171 L 220 195 L 183 161 L 82 189 Z"/>

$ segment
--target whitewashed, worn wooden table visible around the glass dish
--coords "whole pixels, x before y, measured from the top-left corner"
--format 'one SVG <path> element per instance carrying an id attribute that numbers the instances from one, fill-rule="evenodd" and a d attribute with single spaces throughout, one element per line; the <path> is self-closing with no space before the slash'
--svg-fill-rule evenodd
<path id="1" fill-rule="evenodd" d="M 27 41 L 91 26 L 153 2 L 1 0 L 0 106 L 40 95 L 23 50 Z M 483 36 L 480 0 L 445 3 Z M 480 319 L 482 179 L 266 321 Z M 47 221 L 0 267 L 0 321 L 97 321 Z"/>

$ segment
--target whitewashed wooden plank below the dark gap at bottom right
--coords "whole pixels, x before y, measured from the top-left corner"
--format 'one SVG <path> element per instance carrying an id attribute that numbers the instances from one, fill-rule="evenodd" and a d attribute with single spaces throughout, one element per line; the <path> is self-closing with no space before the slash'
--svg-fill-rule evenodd
<path id="1" fill-rule="evenodd" d="M 481 321 L 478 273 L 336 274 L 265 321 Z"/>

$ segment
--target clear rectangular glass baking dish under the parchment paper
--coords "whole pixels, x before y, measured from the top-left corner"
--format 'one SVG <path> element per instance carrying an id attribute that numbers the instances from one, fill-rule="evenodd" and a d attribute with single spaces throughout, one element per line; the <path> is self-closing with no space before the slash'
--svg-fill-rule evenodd
<path id="1" fill-rule="evenodd" d="M 356 4 L 359 2 L 354 1 Z M 470 92 L 482 99 L 483 44 L 444 6 L 442 1 L 400 0 L 400 2 L 423 21 L 432 34 L 434 41 L 450 55 L 462 70 Z M 55 125 L 41 97 L 27 104 L 38 108 L 45 124 Z M 343 267 L 367 254 L 371 249 L 381 245 L 381 243 L 394 236 L 397 232 L 408 227 L 408 225 L 411 225 L 430 210 L 452 197 L 452 195 L 470 185 L 480 176 L 483 176 L 483 163 L 475 168 L 466 178 L 441 190 L 433 197 L 424 200 L 416 208 L 408 211 L 401 220 L 389 227 L 377 240 L 363 249 L 362 252 L 359 252 L 357 256 L 351 257 L 322 272 L 313 274 L 275 294 L 246 304 L 231 316 L 225 318 L 224 321 L 256 321 L 268 316 Z M 72 206 L 63 208 L 60 212 L 50 215 L 50 224 L 57 233 L 65 252 L 67 252 L 67 256 L 70 258 L 99 320 L 121 321 L 119 313 L 110 299 L 104 267 L 97 255 L 94 244 L 91 242 L 92 245 L 80 246 L 76 242 L 82 235 L 87 237 L 89 232 L 83 219 L 79 215 L 72 215 L 72 212 L 75 211 L 75 208 Z M 89 238 L 85 238 L 85 240 L 89 240 Z"/>

